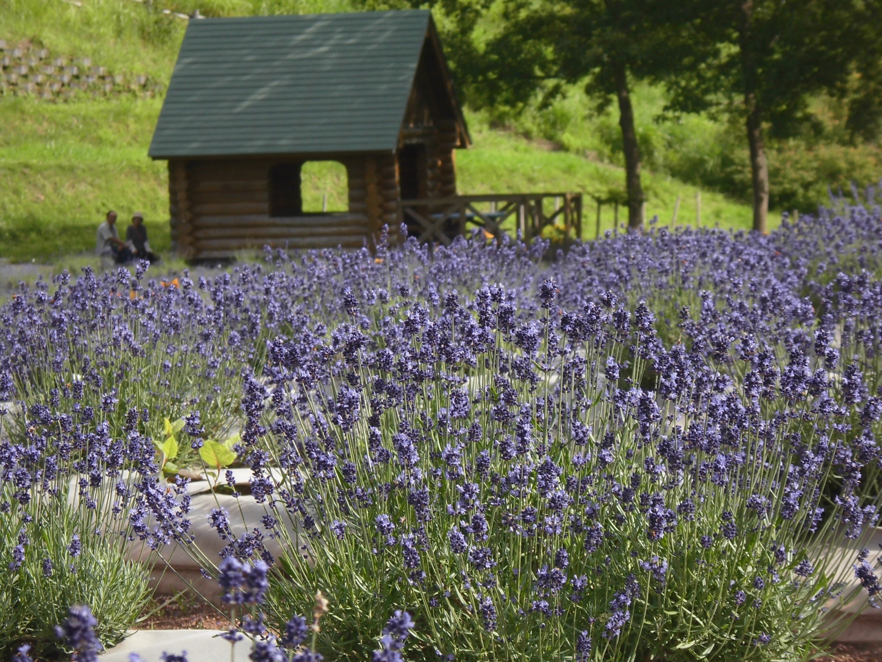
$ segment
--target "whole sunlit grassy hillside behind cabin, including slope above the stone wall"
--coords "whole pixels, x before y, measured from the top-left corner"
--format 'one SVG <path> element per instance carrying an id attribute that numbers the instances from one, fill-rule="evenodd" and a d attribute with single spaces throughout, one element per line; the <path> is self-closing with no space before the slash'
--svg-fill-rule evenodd
<path id="1" fill-rule="evenodd" d="M 153 10 L 133 0 L 0 0 L 0 39 L 28 41 L 53 55 L 90 57 L 113 73 L 147 75 L 168 83 L 186 20 L 169 11 L 246 14 L 273 11 L 335 11 L 344 0 L 153 0 Z M 641 139 L 647 142 L 660 101 L 651 88 L 637 93 Z M 0 257 L 46 260 L 93 247 L 93 231 L 104 212 L 145 212 L 152 243 L 168 250 L 168 196 L 162 162 L 146 157 L 158 99 L 78 94 L 72 102 L 0 97 Z M 572 94 L 551 109 L 519 118 L 515 130 L 491 128 L 504 118 L 469 115 L 475 147 L 457 155 L 460 192 L 584 191 L 621 195 L 624 175 L 617 164 L 615 131 L 608 118 L 586 115 L 587 104 Z M 557 117 L 557 120 L 554 120 Z M 554 121 L 552 121 L 554 120 Z M 556 124 L 557 122 L 557 124 Z M 604 124 L 606 123 L 606 124 Z M 678 135 L 701 144 L 719 126 L 697 118 Z M 603 147 L 612 145 L 613 147 Z M 605 150 L 605 151 L 604 151 Z M 679 222 L 694 223 L 698 189 L 671 177 L 671 168 L 647 148 L 647 216 L 669 222 L 677 197 Z M 669 150 L 670 151 L 670 150 Z M 694 150 L 693 150 L 694 151 Z M 316 169 L 309 178 L 308 204 L 329 208 L 340 200 L 340 176 Z M 594 236 L 594 206 L 586 201 L 585 229 Z M 747 228 L 750 209 L 720 193 L 702 191 L 703 224 Z M 318 208 L 318 207 L 317 207 Z M 624 221 L 624 211 L 620 220 Z M 602 229 L 612 227 L 604 207 Z M 777 219 L 777 214 L 774 216 Z"/>

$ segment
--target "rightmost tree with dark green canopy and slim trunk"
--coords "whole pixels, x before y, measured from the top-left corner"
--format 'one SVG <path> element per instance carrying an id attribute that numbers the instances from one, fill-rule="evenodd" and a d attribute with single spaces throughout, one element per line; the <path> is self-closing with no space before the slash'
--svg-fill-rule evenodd
<path id="1" fill-rule="evenodd" d="M 811 121 L 813 96 L 847 95 L 856 71 L 874 71 L 871 64 L 878 64 L 880 47 L 869 26 L 878 26 L 882 18 L 880 0 L 699 0 L 689 11 L 696 26 L 691 42 L 706 59 L 667 80 L 669 108 L 722 109 L 744 122 L 753 229 L 765 233 L 766 134 L 793 135 Z M 867 101 L 864 95 L 863 102 L 850 104 L 850 125 L 862 132 L 878 126 L 880 104 Z"/>

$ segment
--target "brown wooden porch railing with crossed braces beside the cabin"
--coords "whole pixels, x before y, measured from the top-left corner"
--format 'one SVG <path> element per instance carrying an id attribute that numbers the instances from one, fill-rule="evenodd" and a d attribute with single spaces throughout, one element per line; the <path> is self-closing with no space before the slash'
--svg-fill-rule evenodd
<path id="1" fill-rule="evenodd" d="M 549 202 L 549 205 L 545 203 Z M 545 207 L 552 207 L 549 212 Z M 487 207 L 487 208 L 483 208 Z M 502 224 L 514 216 L 515 228 L 524 241 L 531 241 L 542 229 L 564 222 L 564 236 L 582 238 L 581 193 L 510 193 L 458 195 L 451 198 L 401 200 L 399 215 L 420 242 L 450 245 L 469 226 L 498 237 Z"/>

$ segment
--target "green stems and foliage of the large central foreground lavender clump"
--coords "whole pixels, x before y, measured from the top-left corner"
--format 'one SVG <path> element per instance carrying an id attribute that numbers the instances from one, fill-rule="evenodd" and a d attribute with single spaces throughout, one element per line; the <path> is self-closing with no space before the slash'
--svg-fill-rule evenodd
<path id="1" fill-rule="evenodd" d="M 375 325 L 370 329 L 370 345 L 382 351 L 383 320 L 407 317 L 407 304 L 393 301 L 367 314 Z M 460 318 L 456 324 L 466 321 Z M 468 365 L 445 365 L 437 358 L 423 360 L 437 348 L 426 336 L 416 335 L 407 342 L 409 356 L 415 359 L 409 370 L 411 374 L 425 371 L 433 375 L 418 387 L 417 380 L 408 384 L 400 372 L 378 369 L 371 357 L 361 353 L 325 355 L 329 370 L 323 386 L 310 390 L 292 385 L 290 410 L 288 400 L 280 404 L 276 399 L 284 392 L 276 385 L 276 415 L 281 418 L 282 410 L 293 412 L 295 427 L 303 431 L 298 439 L 305 445 L 310 439 L 329 435 L 332 448 L 355 463 L 357 477 L 348 477 L 340 467 L 319 470 L 318 455 L 310 455 L 310 450 L 299 444 L 303 466 L 283 473 L 282 478 L 273 476 L 279 491 L 301 495 L 309 516 L 317 523 L 315 528 L 304 524 L 305 515 L 303 520 L 292 515 L 281 501 L 270 510 L 289 529 L 300 533 L 297 537 L 281 534 L 286 545 L 279 560 L 280 573 L 272 583 L 267 610 L 271 622 L 280 625 L 292 609 L 302 613 L 310 596 L 321 590 L 333 604 L 323 630 L 326 648 L 322 650 L 333 658 L 363 658 L 372 645 L 363 633 L 377 631 L 386 614 L 402 605 L 415 614 L 415 636 L 422 642 L 426 658 L 432 658 L 437 648 L 460 659 L 567 659 L 574 655 L 582 631 L 594 641 L 595 659 L 808 658 L 822 631 L 835 627 L 839 607 L 853 597 L 841 591 L 842 582 L 851 575 L 849 563 L 855 560 L 856 550 L 834 546 L 848 541 L 843 540 L 841 524 L 833 517 L 820 523 L 817 531 L 812 523 L 814 508 L 822 503 L 830 508 L 820 494 L 833 479 L 833 468 L 826 466 L 796 481 L 802 492 L 795 516 L 782 515 L 787 490 L 793 487 L 785 486 L 785 477 L 796 469 L 801 444 L 815 448 L 829 435 L 831 443 L 845 446 L 846 435 L 834 432 L 829 427 L 831 421 L 818 422 L 817 416 L 809 418 L 814 426 L 790 417 L 789 403 L 780 396 L 764 401 L 761 408 L 747 415 L 744 407 L 750 403 L 746 398 L 741 401 L 738 386 L 744 384 L 746 363 L 737 360 L 734 353 L 721 359 L 720 366 L 728 365 L 728 372 L 736 379 L 728 380 L 728 386 L 716 395 L 702 394 L 699 387 L 693 387 L 688 395 L 661 403 L 658 410 L 648 395 L 648 400 L 621 408 L 612 402 L 604 366 L 610 359 L 617 365 L 632 363 L 633 383 L 640 383 L 647 361 L 641 357 L 639 344 L 636 350 L 629 350 L 634 338 L 609 328 L 609 335 L 599 334 L 588 342 L 570 344 L 564 339 L 560 346 L 565 351 L 556 356 L 551 348 L 557 342 L 549 344 L 548 340 L 554 329 L 549 318 L 543 326 L 544 340 L 535 354 L 520 349 L 512 335 L 499 333 L 493 347 L 477 352 L 475 361 Z M 654 332 L 645 335 L 642 342 L 651 344 L 653 336 Z M 598 337 L 605 340 L 598 342 Z M 396 350 L 400 354 L 405 348 Z M 532 380 L 512 377 L 514 393 L 503 394 L 496 377 L 500 362 L 526 362 L 535 371 Z M 714 379 L 713 374 L 705 376 Z M 344 375 L 348 375 L 348 383 L 357 379 L 363 387 L 356 410 L 365 412 L 348 430 L 329 423 L 332 413 L 326 406 L 326 402 L 339 402 L 340 391 L 345 390 Z M 725 379 L 719 372 L 717 375 Z M 385 397 L 373 389 L 377 380 L 400 380 L 405 388 L 413 386 L 412 399 L 386 409 L 378 426 L 384 448 L 396 448 L 400 444 L 396 435 L 402 431 L 410 431 L 409 436 L 420 440 L 419 459 L 411 465 L 396 459 L 389 463 L 370 460 L 376 458 L 378 447 L 370 443 L 367 412 L 376 412 L 377 401 Z M 627 386 L 624 379 L 619 386 Z M 721 400 L 726 400 L 723 394 L 727 392 L 729 400 L 724 405 Z M 455 401 L 463 394 L 471 406 L 456 417 L 449 412 L 457 408 Z M 505 397 L 520 403 L 519 432 L 528 431 L 534 443 L 514 459 L 504 459 L 500 451 L 500 442 L 511 428 L 500 425 L 491 415 Z M 812 404 L 810 398 L 798 409 L 808 414 Z M 736 420 L 723 423 L 716 418 L 719 414 L 714 414 L 714 408 L 723 406 L 730 408 L 723 420 L 729 416 L 744 416 L 745 420 L 740 425 Z M 427 424 L 445 419 L 448 425 Z M 781 419 L 781 425 L 770 426 Z M 324 424 L 317 423 L 322 420 Z M 273 416 L 268 415 L 264 423 L 272 427 L 272 421 Z M 581 443 L 576 440 L 580 433 L 574 432 L 574 421 L 591 431 Z M 480 434 L 469 433 L 475 424 Z M 736 470 L 726 474 L 720 484 L 714 485 L 707 476 L 699 478 L 693 464 L 678 476 L 676 470 L 661 470 L 649 485 L 644 475 L 636 490 L 646 491 L 647 496 L 663 492 L 662 510 L 667 509 L 672 519 L 676 519 L 678 504 L 691 499 L 696 508 L 694 518 L 680 512 L 679 523 L 665 533 L 647 525 L 646 509 L 635 508 L 640 499 L 637 494 L 632 495 L 633 501 L 602 498 L 603 493 L 610 496 L 610 485 L 617 485 L 612 493 L 616 489 L 620 492 L 634 485 L 635 474 L 639 482 L 644 467 L 661 462 L 659 449 L 648 442 L 650 436 L 656 440 L 683 438 L 689 433 L 709 433 L 716 425 L 721 425 L 717 429 L 723 436 L 735 435 L 729 443 L 743 454 Z M 646 429 L 641 432 L 643 426 Z M 443 458 L 449 456 L 445 454 L 458 444 L 465 448 L 456 462 L 445 462 Z M 614 454 L 615 459 L 609 463 L 602 460 L 603 448 L 609 448 L 609 456 Z M 261 449 L 272 457 L 273 464 L 282 466 L 285 459 L 281 455 L 296 452 L 278 437 L 267 438 Z M 715 451 L 708 455 L 692 452 L 693 463 L 714 463 L 716 459 Z M 483 475 L 476 469 L 482 453 L 492 458 Z M 525 466 L 530 463 L 532 467 Z M 543 463 L 561 468 L 567 480 L 587 481 L 585 492 L 596 491 L 601 497 L 575 496 L 564 508 L 564 516 L 557 517 L 549 508 L 548 485 L 543 493 L 542 471 L 534 471 Z M 512 470 L 519 469 L 524 477 L 521 488 L 516 493 L 501 488 L 500 479 L 511 478 Z M 871 469 L 865 479 L 872 483 L 874 477 Z M 466 508 L 451 515 L 445 508 L 461 504 L 464 486 L 473 481 L 478 487 L 475 502 L 490 506 L 478 508 L 486 515 L 487 533 L 485 538 L 476 534 L 470 538 L 469 553 L 453 553 L 451 530 L 465 530 L 476 511 Z M 554 489 L 563 485 L 563 480 L 557 484 L 557 478 L 553 482 Z M 421 486 L 428 489 L 426 500 L 430 502 L 430 512 L 422 515 L 412 500 Z M 355 493 L 371 487 L 370 500 L 359 499 Z M 574 496 L 572 490 L 568 492 Z M 752 494 L 765 495 L 766 511 L 751 510 L 748 497 Z M 539 532 L 525 535 L 523 530 L 532 524 L 517 515 L 529 508 L 536 508 L 534 523 Z M 597 511 L 587 517 L 586 508 Z M 383 515 L 394 526 L 391 535 L 377 532 L 377 517 Z M 596 549 L 587 543 L 591 534 L 573 526 L 583 517 L 586 526 L 591 519 L 602 522 Z M 345 530 L 335 535 L 334 526 L 341 522 L 346 523 Z M 721 534 L 728 523 L 736 531 L 731 537 Z M 543 527 L 549 528 L 544 535 Z M 406 534 L 416 538 L 416 565 L 403 553 L 407 545 L 402 537 Z M 700 542 L 703 536 L 712 538 L 708 548 Z M 788 552 L 776 559 L 775 549 L 780 545 Z M 468 556 L 476 548 L 488 549 L 492 568 L 476 569 L 469 562 Z M 559 549 L 568 552 L 564 572 L 571 583 L 543 592 L 537 586 L 542 585 L 542 573 L 555 567 Z M 652 568 L 660 560 L 667 563 L 664 573 Z M 813 568 L 811 574 L 795 575 L 806 560 Z M 572 578 L 579 576 L 586 578 L 583 590 L 572 587 Z M 744 600 L 739 602 L 736 590 L 745 591 Z M 625 594 L 626 608 L 615 608 L 617 597 Z M 495 610 L 492 626 L 486 615 L 488 598 Z M 547 604 L 537 607 L 537 600 Z M 828 608 L 832 610 L 828 612 Z M 605 638 L 623 609 L 629 619 L 621 623 L 621 634 Z M 825 624 L 825 619 L 831 620 Z"/>

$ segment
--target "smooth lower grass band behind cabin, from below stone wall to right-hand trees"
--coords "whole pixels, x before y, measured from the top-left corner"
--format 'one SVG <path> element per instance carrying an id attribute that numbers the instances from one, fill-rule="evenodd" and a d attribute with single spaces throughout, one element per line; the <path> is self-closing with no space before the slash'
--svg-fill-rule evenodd
<path id="1" fill-rule="evenodd" d="M 0 102 L 0 257 L 44 260 L 90 250 L 94 228 L 108 208 L 123 221 L 132 211 L 146 214 L 153 245 L 168 250 L 168 195 L 164 162 L 146 156 L 159 114 L 158 100 L 46 103 L 33 99 Z M 457 154 L 460 192 L 584 191 L 606 197 L 621 187 L 616 166 L 531 142 L 512 132 L 491 131 L 472 121 L 475 147 Z M 341 177 L 316 169 L 308 178 L 305 202 L 319 209 L 323 193 L 329 209 L 339 207 Z M 647 216 L 669 222 L 681 196 L 679 222 L 695 218 L 696 189 L 670 177 L 646 177 Z M 594 236 L 593 203 L 586 200 L 586 237 Z M 624 222 L 624 210 L 620 214 Z M 750 227 L 750 209 L 719 193 L 702 193 L 702 221 Z M 604 207 L 602 229 L 613 224 Z"/>

